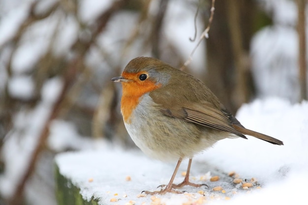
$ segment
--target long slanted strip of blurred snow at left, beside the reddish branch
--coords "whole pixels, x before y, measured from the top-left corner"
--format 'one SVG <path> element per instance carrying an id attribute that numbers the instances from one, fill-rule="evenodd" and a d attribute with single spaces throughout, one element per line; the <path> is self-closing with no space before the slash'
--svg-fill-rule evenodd
<path id="1" fill-rule="evenodd" d="M 21 87 L 27 84 L 20 82 Z M 50 115 L 51 106 L 58 98 L 62 88 L 59 78 L 52 78 L 42 87 L 42 101 L 33 110 L 20 110 L 13 116 L 14 127 L 8 133 L 0 150 L 0 156 L 5 162 L 5 172 L 0 176 L 0 194 L 8 197 L 14 192 L 15 186 L 28 167 L 33 148 L 38 142 L 39 134 Z M 12 89 L 12 88 L 9 88 Z M 13 88 L 13 93 L 25 88 Z M 20 96 L 20 95 L 19 95 Z M 14 132 L 14 130 L 18 130 Z"/>

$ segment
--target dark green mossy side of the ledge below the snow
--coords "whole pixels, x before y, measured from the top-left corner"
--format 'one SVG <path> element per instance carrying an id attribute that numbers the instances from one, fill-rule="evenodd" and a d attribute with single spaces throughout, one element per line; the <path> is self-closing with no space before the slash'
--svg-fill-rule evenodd
<path id="1" fill-rule="evenodd" d="M 80 189 L 70 179 L 65 178 L 55 165 L 56 198 L 58 205 L 98 205 L 98 199 L 92 197 L 90 202 L 83 199 Z"/>

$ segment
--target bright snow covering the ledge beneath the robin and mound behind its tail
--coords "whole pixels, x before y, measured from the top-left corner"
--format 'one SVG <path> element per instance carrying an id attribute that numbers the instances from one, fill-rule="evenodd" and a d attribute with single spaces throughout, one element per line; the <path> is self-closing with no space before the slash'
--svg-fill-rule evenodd
<path id="1" fill-rule="evenodd" d="M 207 183 L 209 189 L 185 187 L 183 190 L 192 195 L 168 193 L 156 197 L 166 205 L 183 204 L 203 197 L 196 193 L 202 189 L 213 204 L 304 204 L 308 183 L 307 113 L 306 101 L 292 105 L 280 98 L 267 98 L 243 105 L 237 115 L 242 124 L 282 140 L 284 146 L 249 136 L 248 140 L 219 141 L 213 148 L 194 157 L 192 163 L 191 178 L 196 178 L 193 182 Z M 96 151 L 59 154 L 56 163 L 60 173 L 81 188 L 80 193 L 85 199 L 89 200 L 94 195 L 101 199 L 100 204 L 112 204 L 110 199 L 118 198 L 121 199 L 116 203 L 118 205 L 130 200 L 136 204 L 150 204 L 151 196 L 137 198 L 137 195 L 143 190 L 155 190 L 157 185 L 168 183 L 176 165 L 176 162 L 165 164 L 151 160 L 140 151 L 124 151 L 110 145 Z M 185 171 L 186 165 L 187 160 L 179 173 Z M 254 177 L 261 184 L 261 189 L 245 191 L 234 188 L 232 181 L 222 177 L 215 186 L 222 186 L 226 193 L 213 193 L 213 182 L 208 179 L 217 170 L 218 175 L 235 171 L 242 178 Z M 176 183 L 183 180 L 183 176 L 179 175 Z M 125 181 L 126 176 L 130 176 L 131 181 Z M 202 176 L 206 176 L 205 181 L 198 180 Z M 235 190 L 238 193 L 231 194 Z M 224 200 L 223 196 L 231 199 Z"/>

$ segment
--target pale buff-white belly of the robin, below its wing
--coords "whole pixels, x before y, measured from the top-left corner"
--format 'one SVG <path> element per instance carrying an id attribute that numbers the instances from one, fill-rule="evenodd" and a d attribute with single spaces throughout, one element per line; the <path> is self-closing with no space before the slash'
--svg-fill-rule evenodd
<path id="1" fill-rule="evenodd" d="M 214 137 L 216 132 L 212 129 L 201 130 L 193 123 L 164 116 L 159 109 L 145 95 L 133 111 L 130 123 L 125 123 L 131 139 L 148 156 L 161 161 L 191 158 L 216 143 L 218 137 Z"/>

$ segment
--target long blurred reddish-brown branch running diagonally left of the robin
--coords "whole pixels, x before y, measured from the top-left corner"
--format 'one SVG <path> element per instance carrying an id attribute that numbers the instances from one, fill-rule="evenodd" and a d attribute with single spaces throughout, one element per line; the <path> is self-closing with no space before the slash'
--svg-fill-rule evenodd
<path id="1" fill-rule="evenodd" d="M 49 126 L 53 119 L 57 118 L 60 115 L 60 112 L 62 110 L 63 103 L 65 102 L 66 95 L 68 93 L 68 90 L 71 88 L 72 84 L 75 81 L 75 78 L 79 71 L 84 69 L 84 57 L 87 54 L 89 48 L 92 46 L 92 43 L 95 42 L 96 37 L 102 30 L 106 27 L 110 17 L 118 11 L 120 8 L 122 8 L 128 1 L 127 0 L 118 0 L 114 1 L 114 3 L 110 6 L 109 9 L 107 9 L 104 13 L 102 13 L 96 20 L 96 27 L 92 27 L 92 38 L 89 39 L 89 41 L 85 40 L 77 40 L 75 43 L 75 49 L 77 54 L 75 55 L 74 59 L 70 61 L 70 63 L 66 66 L 64 69 L 64 77 L 63 77 L 63 87 L 60 96 L 58 97 L 57 101 L 54 104 L 54 107 L 51 111 L 50 116 L 46 120 L 46 123 L 42 129 L 42 132 L 39 136 L 39 140 L 37 143 L 37 146 L 34 148 L 34 151 L 31 155 L 31 159 L 29 162 L 28 169 L 24 173 L 24 176 L 22 176 L 22 179 L 20 180 L 19 184 L 17 185 L 17 188 L 15 190 L 15 193 L 13 194 L 9 204 L 10 205 L 20 205 L 22 204 L 23 198 L 23 192 L 24 187 L 31 176 L 32 172 L 35 169 L 35 165 L 37 162 L 37 159 L 39 157 L 39 154 L 43 150 L 43 147 L 45 146 L 46 140 L 49 135 Z"/>

